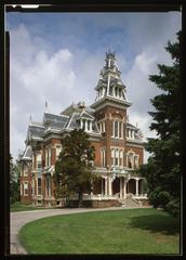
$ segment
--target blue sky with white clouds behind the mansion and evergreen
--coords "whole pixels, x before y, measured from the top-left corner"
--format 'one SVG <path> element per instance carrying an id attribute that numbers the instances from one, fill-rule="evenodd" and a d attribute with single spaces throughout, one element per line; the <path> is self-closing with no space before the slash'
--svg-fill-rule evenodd
<path id="1" fill-rule="evenodd" d="M 105 53 L 116 52 L 121 78 L 132 106 L 129 120 L 144 140 L 154 110 L 150 99 L 160 93 L 149 75 L 157 64 L 171 65 L 164 50 L 182 28 L 180 12 L 167 13 L 6 13 L 10 31 L 10 152 L 14 159 L 25 150 L 31 116 L 59 114 L 72 102 L 95 101 L 94 88 Z M 145 153 L 145 161 L 148 153 Z"/>

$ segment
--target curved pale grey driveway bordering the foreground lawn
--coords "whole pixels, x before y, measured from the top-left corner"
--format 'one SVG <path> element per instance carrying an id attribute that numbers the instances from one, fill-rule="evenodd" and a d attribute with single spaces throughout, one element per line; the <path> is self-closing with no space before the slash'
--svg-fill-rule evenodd
<path id="1" fill-rule="evenodd" d="M 31 211 L 21 211 L 11 213 L 11 247 L 10 252 L 13 255 L 26 255 L 26 250 L 22 247 L 18 242 L 18 232 L 23 225 L 26 223 L 42 219 L 44 217 L 57 216 L 57 214 L 70 214 L 70 213 L 82 213 L 92 211 L 104 211 L 104 210 L 120 210 L 124 209 L 122 207 L 111 207 L 111 208 L 72 208 L 72 209 L 40 209 Z"/>

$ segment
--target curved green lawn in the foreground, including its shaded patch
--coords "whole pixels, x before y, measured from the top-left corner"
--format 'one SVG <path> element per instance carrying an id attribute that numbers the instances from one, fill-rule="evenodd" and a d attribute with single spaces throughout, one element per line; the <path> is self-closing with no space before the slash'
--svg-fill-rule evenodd
<path id="1" fill-rule="evenodd" d="M 29 253 L 180 253 L 178 220 L 156 209 L 77 213 L 23 226 Z"/>

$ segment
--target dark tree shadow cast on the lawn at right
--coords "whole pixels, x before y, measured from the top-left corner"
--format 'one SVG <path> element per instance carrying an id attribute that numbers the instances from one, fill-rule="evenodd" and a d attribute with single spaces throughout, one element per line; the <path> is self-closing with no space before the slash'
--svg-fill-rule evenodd
<path id="1" fill-rule="evenodd" d="M 130 225 L 132 227 L 149 230 L 152 233 L 160 232 L 165 235 L 175 235 L 180 233 L 178 218 L 171 216 L 138 216 L 131 218 Z"/>

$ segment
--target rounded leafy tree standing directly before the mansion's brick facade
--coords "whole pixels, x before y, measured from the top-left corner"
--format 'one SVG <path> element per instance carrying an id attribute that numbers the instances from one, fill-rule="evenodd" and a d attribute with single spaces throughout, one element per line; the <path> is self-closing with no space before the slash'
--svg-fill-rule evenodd
<path id="1" fill-rule="evenodd" d="M 55 164 L 56 197 L 68 198 L 78 194 L 79 207 L 82 205 L 83 193 L 91 191 L 94 157 L 94 147 L 83 130 L 74 130 L 63 139 L 63 150 Z"/>

